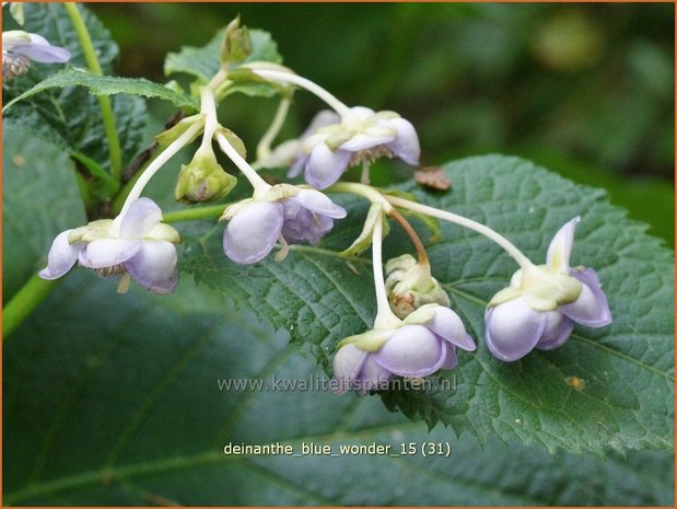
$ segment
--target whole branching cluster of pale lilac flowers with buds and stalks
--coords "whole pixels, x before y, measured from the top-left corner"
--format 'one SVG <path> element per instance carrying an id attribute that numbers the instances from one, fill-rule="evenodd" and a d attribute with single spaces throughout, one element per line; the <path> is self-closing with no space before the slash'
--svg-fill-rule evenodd
<path id="1" fill-rule="evenodd" d="M 289 244 L 316 244 L 334 227 L 334 220 L 347 211 L 322 190 L 354 193 L 372 201 L 363 234 L 355 241 L 355 251 L 372 246 L 377 313 L 373 328 L 339 343 L 334 359 L 334 377 L 341 391 L 383 386 L 392 377 L 421 378 L 457 366 L 457 348 L 472 351 L 475 340 L 466 333 L 459 316 L 450 308 L 450 300 L 431 276 L 424 247 L 416 232 L 397 209 L 425 213 L 471 228 L 503 246 L 515 258 L 520 269 L 510 286 L 498 292 L 486 311 L 485 342 L 500 360 L 514 361 L 534 348 L 549 350 L 562 346 L 570 337 L 573 324 L 599 327 L 611 322 L 611 315 L 599 279 L 591 268 L 570 267 L 573 235 L 580 218 L 564 224 L 548 248 L 546 264 L 535 265 L 514 245 L 486 225 L 452 212 L 382 194 L 369 185 L 369 165 L 381 157 L 399 158 L 417 165 L 419 139 L 413 126 L 394 112 L 374 112 L 348 107 L 317 84 L 289 69 L 269 62 L 249 62 L 246 69 L 258 80 L 281 86 L 299 86 L 325 100 L 332 112 L 320 112 L 306 131 L 270 150 L 270 139 L 279 130 L 273 120 L 257 151 L 258 161 L 249 164 L 242 141 L 219 124 L 215 91 L 224 85 L 229 54 L 241 55 L 247 45 L 246 32 L 238 24 L 229 26 L 222 50 L 220 73 L 201 88 L 201 107 L 197 115 L 159 136 L 163 151 L 138 178 L 115 219 L 92 221 L 67 230 L 54 241 L 47 267 L 39 273 L 45 279 L 63 276 L 77 263 L 104 276 L 121 276 L 118 291 L 125 292 L 130 279 L 155 292 L 168 293 L 177 285 L 176 244 L 178 232 L 162 222 L 160 208 L 141 193 L 151 177 L 176 152 L 196 137 L 202 141 L 192 161 L 182 167 L 176 197 L 195 203 L 219 199 L 227 195 L 235 177 L 217 162 L 215 141 L 221 151 L 249 181 L 249 198 L 225 207 L 221 220 L 223 251 L 238 264 L 254 264 L 267 257 L 276 246 L 276 261 L 282 261 Z M 3 53 L 4 53 L 3 36 Z M 233 50 L 233 46 L 237 51 Z M 12 51 L 28 55 L 25 47 L 14 45 Z M 244 51 L 246 53 L 246 51 Z M 54 53 L 52 53 L 54 55 Z M 225 56 L 224 56 L 225 55 Z M 240 61 L 242 60 L 241 57 Z M 243 66 L 244 67 L 244 66 Z M 285 112 L 282 99 L 280 111 Z M 362 165 L 363 180 L 339 182 L 353 165 Z M 290 167 L 290 176 L 303 172 L 307 185 L 266 183 L 255 169 Z M 404 255 L 386 265 L 384 278 L 381 254 L 384 228 L 388 219 L 405 227 L 417 247 L 418 258 Z"/>

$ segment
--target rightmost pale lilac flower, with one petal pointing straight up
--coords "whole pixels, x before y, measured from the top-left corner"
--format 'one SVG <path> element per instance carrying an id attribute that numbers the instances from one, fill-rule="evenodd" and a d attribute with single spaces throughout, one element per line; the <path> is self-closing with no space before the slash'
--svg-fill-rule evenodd
<path id="1" fill-rule="evenodd" d="M 611 323 L 607 298 L 592 268 L 570 268 L 573 233 L 580 218 L 564 224 L 548 248 L 546 266 L 532 282 L 518 270 L 511 286 L 497 293 L 486 312 L 485 339 L 504 361 L 517 360 L 534 348 L 562 346 L 573 324 L 602 327 Z"/>

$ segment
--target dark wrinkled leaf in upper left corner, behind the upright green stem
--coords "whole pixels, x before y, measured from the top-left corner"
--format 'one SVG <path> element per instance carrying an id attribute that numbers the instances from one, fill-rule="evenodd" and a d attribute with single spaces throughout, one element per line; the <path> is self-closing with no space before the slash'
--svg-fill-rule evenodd
<path id="1" fill-rule="evenodd" d="M 79 5 L 105 74 L 113 71 L 117 57 L 117 45 L 108 31 Z M 71 51 L 70 65 L 86 68 L 86 62 L 78 35 L 62 4 L 26 3 L 24 30 L 38 33 L 51 44 L 67 47 Z M 9 22 L 8 22 L 9 23 Z M 11 81 L 3 82 L 2 100 L 8 104 L 37 83 L 54 74 L 60 66 L 34 63 L 30 71 Z M 72 72 L 72 71 L 71 71 Z M 137 153 L 144 126 L 145 104 L 130 95 L 112 97 L 116 117 L 116 128 L 122 150 L 122 162 L 128 162 Z M 96 97 L 80 86 L 49 89 L 31 96 L 9 108 L 2 118 L 5 130 L 22 129 L 38 136 L 71 153 L 82 153 L 100 165 L 108 167 L 108 151 L 105 139 L 101 108 Z"/>

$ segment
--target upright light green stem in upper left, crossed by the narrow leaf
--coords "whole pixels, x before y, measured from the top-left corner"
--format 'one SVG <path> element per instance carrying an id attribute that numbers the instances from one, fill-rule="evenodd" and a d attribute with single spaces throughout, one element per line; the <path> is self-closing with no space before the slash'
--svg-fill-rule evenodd
<path id="1" fill-rule="evenodd" d="M 66 2 L 63 4 L 66 12 L 75 28 L 78 38 L 80 39 L 80 46 L 82 47 L 82 54 L 87 62 L 87 67 L 93 74 L 102 76 L 103 71 L 96 57 L 96 50 L 92 44 L 92 38 L 87 31 L 82 14 L 78 9 L 78 5 L 72 2 Z M 120 149 L 120 140 L 117 136 L 117 127 L 115 125 L 115 114 L 113 113 L 113 106 L 110 104 L 110 97 L 107 95 L 101 95 L 96 97 L 98 101 L 98 107 L 101 108 L 101 116 L 104 123 L 104 130 L 106 132 L 106 141 L 108 142 L 108 157 L 110 158 L 110 173 L 118 182 L 122 180 L 122 151 Z"/>

